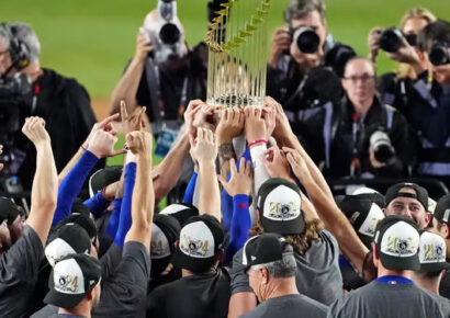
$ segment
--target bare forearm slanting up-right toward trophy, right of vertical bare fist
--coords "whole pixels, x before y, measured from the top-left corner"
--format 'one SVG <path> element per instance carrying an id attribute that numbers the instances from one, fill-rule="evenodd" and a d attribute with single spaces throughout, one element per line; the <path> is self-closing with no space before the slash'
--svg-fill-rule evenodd
<path id="1" fill-rule="evenodd" d="M 189 155 L 189 136 L 187 133 L 183 133 L 178 143 L 158 166 L 158 169 L 164 173 L 160 173 L 159 178 L 156 179 L 154 183 L 155 201 L 157 203 L 177 185 L 184 160 Z M 168 171 L 170 171 L 170 173 L 167 173 Z"/>

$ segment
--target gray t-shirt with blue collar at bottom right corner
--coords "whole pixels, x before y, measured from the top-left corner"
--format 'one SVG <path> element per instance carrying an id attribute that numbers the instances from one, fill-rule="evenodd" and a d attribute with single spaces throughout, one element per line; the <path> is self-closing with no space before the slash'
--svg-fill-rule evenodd
<path id="1" fill-rule="evenodd" d="M 446 316 L 436 298 L 416 284 L 384 284 L 373 281 L 333 303 L 327 317 L 439 318 Z"/>

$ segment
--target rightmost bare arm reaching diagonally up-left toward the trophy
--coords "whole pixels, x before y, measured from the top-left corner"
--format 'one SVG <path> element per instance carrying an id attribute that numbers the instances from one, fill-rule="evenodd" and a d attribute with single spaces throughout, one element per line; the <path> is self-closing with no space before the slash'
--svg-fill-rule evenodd
<path id="1" fill-rule="evenodd" d="M 308 170 L 306 159 L 294 149 L 286 148 L 286 151 L 289 163 L 295 175 L 302 180 L 302 184 L 325 227 L 336 237 L 342 253 L 352 263 L 355 270 L 362 274 L 364 258 L 369 251 L 368 248 L 358 238 L 350 222 L 340 212 L 334 198 L 330 200 L 322 186 L 316 183 L 312 175 L 314 171 Z"/>

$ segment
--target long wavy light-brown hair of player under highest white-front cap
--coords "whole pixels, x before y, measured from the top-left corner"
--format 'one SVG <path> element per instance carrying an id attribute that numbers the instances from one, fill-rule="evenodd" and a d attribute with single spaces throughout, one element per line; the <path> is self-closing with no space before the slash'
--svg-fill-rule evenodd
<path id="1" fill-rule="evenodd" d="M 324 224 L 320 219 L 315 218 L 305 223 L 305 230 L 303 234 L 283 235 L 289 243 L 292 245 L 295 252 L 304 254 L 310 248 L 313 241 L 320 241 L 318 234 L 324 230 Z M 257 224 L 250 229 L 250 237 L 263 234 L 261 220 L 258 219 Z"/>

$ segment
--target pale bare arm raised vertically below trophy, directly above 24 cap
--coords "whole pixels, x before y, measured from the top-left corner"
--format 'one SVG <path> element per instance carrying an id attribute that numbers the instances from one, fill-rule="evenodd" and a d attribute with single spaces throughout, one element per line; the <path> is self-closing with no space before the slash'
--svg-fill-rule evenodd
<path id="1" fill-rule="evenodd" d="M 206 128 L 198 128 L 196 138 L 191 136 L 190 143 L 192 156 L 199 162 L 199 212 L 210 214 L 221 220 L 221 192 L 215 168 L 217 146 L 214 133 Z"/>

